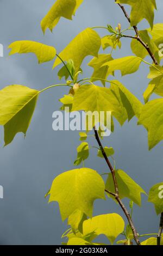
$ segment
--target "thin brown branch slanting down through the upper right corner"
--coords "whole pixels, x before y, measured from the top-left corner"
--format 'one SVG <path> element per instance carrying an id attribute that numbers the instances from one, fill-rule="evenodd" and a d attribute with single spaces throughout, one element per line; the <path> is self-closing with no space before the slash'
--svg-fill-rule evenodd
<path id="1" fill-rule="evenodd" d="M 115 2 L 116 2 L 116 0 L 115 0 Z M 121 5 L 121 4 L 118 4 L 118 5 L 119 5 L 119 7 L 122 9 L 122 11 L 123 11 L 124 15 L 126 16 L 128 22 L 130 23 L 130 22 L 131 22 L 130 17 L 128 16 L 128 14 L 127 14 L 126 10 L 124 9 L 123 5 Z M 139 41 L 139 42 L 142 44 L 142 46 L 146 48 L 146 50 L 147 50 L 147 52 L 149 53 L 149 55 L 151 56 L 151 58 L 152 58 L 154 64 L 155 64 L 155 65 L 158 65 L 158 62 L 157 62 L 156 58 L 154 57 L 154 54 L 152 53 L 151 49 L 150 49 L 149 46 L 140 38 L 139 31 L 138 31 L 137 27 L 136 27 L 136 26 L 133 26 L 133 28 L 134 28 L 134 31 L 135 31 L 135 33 L 136 33 L 136 38 L 135 38 L 135 39 L 137 39 L 137 41 Z"/>

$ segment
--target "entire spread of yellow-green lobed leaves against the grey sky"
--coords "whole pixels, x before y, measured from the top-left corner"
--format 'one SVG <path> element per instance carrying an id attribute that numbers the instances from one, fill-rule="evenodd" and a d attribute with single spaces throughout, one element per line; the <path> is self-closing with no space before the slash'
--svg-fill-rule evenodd
<path id="1" fill-rule="evenodd" d="M 51 31 L 57 25 L 61 17 L 72 19 L 83 0 L 57 0 L 48 14 L 41 21 L 43 33 L 49 28 Z M 130 26 L 135 26 L 142 19 L 149 22 L 150 28 L 139 31 L 140 38 L 151 48 L 158 63 L 161 61 L 159 56 L 159 44 L 163 37 L 163 24 L 153 25 L 155 0 L 117 0 L 117 3 L 131 5 Z M 139 11 L 138 11 L 139 10 Z M 62 52 L 57 54 L 53 46 L 41 44 L 34 41 L 13 42 L 10 55 L 15 53 L 34 53 L 39 63 L 57 58 L 53 68 L 64 64 L 58 72 L 59 78 L 65 77 L 65 84 L 55 84 L 43 90 L 30 89 L 22 85 L 11 85 L 0 91 L 0 124 L 4 126 L 4 142 L 8 145 L 12 142 L 17 132 L 26 135 L 36 102 L 40 93 L 46 89 L 57 86 L 71 87 L 70 92 L 64 95 L 60 102 L 61 109 L 66 106 L 70 111 L 110 111 L 112 117 L 111 131 L 114 131 L 114 118 L 120 125 L 126 120 L 130 121 L 133 117 L 138 119 L 138 124 L 143 125 L 148 131 L 149 149 L 155 147 L 163 139 L 163 67 L 147 63 L 144 59 L 148 56 L 148 51 L 139 40 L 132 36 L 131 50 L 133 56 L 114 59 L 112 51 L 117 47 L 121 48 L 121 39 L 125 37 L 124 32 L 131 32 L 131 28 L 121 30 L 119 24 L 113 29 L 110 25 L 106 27 L 107 34 L 101 38 L 93 28 L 86 28 L 79 33 L 66 46 Z M 106 50 L 111 47 L 110 53 L 99 53 L 100 48 Z M 84 78 L 78 81 L 78 76 L 82 74 L 81 65 L 87 56 L 92 56 L 88 64 L 93 68 L 91 78 Z M 117 70 L 121 71 L 122 76 L 133 74 L 139 70 L 141 63 L 150 66 L 148 78 L 151 79 L 148 88 L 143 94 L 145 104 L 142 104 L 129 90 L 119 81 L 108 81 L 108 76 L 114 76 Z M 70 77 L 71 80 L 67 79 Z M 89 80 L 89 81 L 88 81 Z M 102 86 L 97 86 L 93 82 L 101 81 Z M 110 87 L 106 87 L 106 82 Z M 83 84 L 86 83 L 86 84 Z M 149 101 L 150 96 L 155 93 L 159 99 Z M 103 120 L 105 125 L 105 120 Z M 100 132 L 99 132 L 100 133 Z M 80 141 L 86 141 L 89 135 L 87 132 L 80 132 Z M 89 150 L 92 147 L 87 142 L 82 142 L 77 148 L 77 159 L 74 165 L 78 166 L 89 157 Z M 104 148 L 108 157 L 114 155 L 114 149 Z M 98 157 L 103 157 L 99 148 Z M 115 170 L 120 198 L 129 198 L 130 208 L 133 203 L 141 205 L 141 193 L 146 192 L 123 170 Z M 151 188 L 148 200 L 154 203 L 156 214 L 163 212 L 163 201 L 158 197 L 159 188 L 163 183 Z M 120 234 L 126 235 L 126 239 L 118 243 L 128 243 L 133 240 L 133 233 L 127 225 L 124 230 L 124 221 L 120 215 L 107 214 L 92 217 L 93 202 L 96 199 L 106 199 L 105 190 L 115 193 L 114 182 L 111 174 L 108 174 L 106 184 L 102 176 L 97 171 L 89 168 L 79 168 L 62 173 L 54 179 L 51 190 L 49 190 L 49 202 L 59 203 L 62 220 L 68 219 L 71 228 L 66 231 L 63 237 L 68 238 L 67 245 L 95 245 L 93 240 L 101 234 L 108 237 L 113 243 Z M 108 197 L 115 200 L 111 194 Z M 89 217 L 87 219 L 87 217 Z M 163 245 L 163 240 L 161 241 Z M 155 245 L 156 238 L 142 242 L 142 245 Z"/>

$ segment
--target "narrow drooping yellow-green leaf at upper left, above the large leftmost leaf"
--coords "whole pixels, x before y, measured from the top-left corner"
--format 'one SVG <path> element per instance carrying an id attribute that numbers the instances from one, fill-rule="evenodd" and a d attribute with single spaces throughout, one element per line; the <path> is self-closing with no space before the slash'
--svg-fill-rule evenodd
<path id="1" fill-rule="evenodd" d="M 54 59 L 56 54 L 56 50 L 54 47 L 34 41 L 12 42 L 12 44 L 9 45 L 9 48 L 12 49 L 9 55 L 15 53 L 35 53 L 39 61 L 39 64 L 43 62 L 49 62 L 50 60 Z"/>

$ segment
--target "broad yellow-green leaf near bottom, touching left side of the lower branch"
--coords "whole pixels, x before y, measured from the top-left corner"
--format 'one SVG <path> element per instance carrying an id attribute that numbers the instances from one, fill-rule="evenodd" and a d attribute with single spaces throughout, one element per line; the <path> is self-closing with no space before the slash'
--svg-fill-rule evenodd
<path id="1" fill-rule="evenodd" d="M 118 214 L 104 214 L 83 222 L 83 235 L 92 233 L 91 241 L 98 235 L 105 235 L 111 243 L 124 230 L 123 218 Z"/>

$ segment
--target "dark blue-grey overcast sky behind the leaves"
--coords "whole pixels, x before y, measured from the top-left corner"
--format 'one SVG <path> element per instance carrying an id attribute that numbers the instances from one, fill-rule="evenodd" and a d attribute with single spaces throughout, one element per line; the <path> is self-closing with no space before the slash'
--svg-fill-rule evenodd
<path id="1" fill-rule="evenodd" d="M 161 0 L 156 2 L 158 12 L 155 23 L 161 23 L 163 4 Z M 13 41 L 39 41 L 55 46 L 59 53 L 86 27 L 105 26 L 107 23 L 116 27 L 119 22 L 122 28 L 128 27 L 126 18 L 114 0 L 84 0 L 73 21 L 61 19 L 53 34 L 47 31 L 43 36 L 40 21 L 53 3 L 53 0 L 0 0 L 0 43 L 4 45 L 4 57 L 0 58 L 0 88 L 22 84 L 42 89 L 59 82 L 59 68 L 52 70 L 53 62 L 38 65 L 34 54 L 8 57 L 7 47 Z M 139 29 L 147 27 L 149 25 L 146 21 L 139 25 Z M 104 31 L 98 32 L 104 35 Z M 113 57 L 129 55 L 133 55 L 130 40 L 125 38 L 122 39 L 122 51 L 114 52 Z M 86 61 L 90 59 L 88 57 Z M 92 69 L 85 65 L 86 61 L 82 68 L 84 77 L 89 77 Z M 141 64 L 136 74 L 122 78 L 118 71 L 116 79 L 143 101 L 142 93 L 148 84 L 148 71 L 148 66 Z M 55 176 L 74 168 L 73 161 L 77 155 L 78 132 L 52 130 L 52 113 L 60 108 L 58 99 L 67 92 L 67 88 L 57 88 L 40 95 L 26 139 L 18 134 L 10 145 L 3 148 L 3 129 L 0 129 L 0 185 L 4 187 L 4 199 L 0 199 L 2 245 L 59 245 L 61 234 L 67 229 L 66 222 L 61 222 L 58 204 L 48 204 L 44 198 Z M 163 143 L 149 152 L 147 132 L 136 123 L 134 118 L 121 128 L 115 121 L 115 132 L 103 143 L 114 147 L 117 168 L 125 170 L 148 192 L 152 185 L 162 181 Z M 96 145 L 92 138 L 89 142 Z M 91 151 L 89 160 L 85 162 L 86 167 L 104 173 L 107 166 L 102 159 L 97 159 L 96 154 L 95 149 Z M 124 202 L 128 204 L 128 200 Z M 123 216 L 119 206 L 111 199 L 106 202 L 96 201 L 93 215 L 112 212 Z M 142 208 L 134 206 L 134 223 L 140 234 L 158 231 L 159 217 L 144 195 Z"/>

